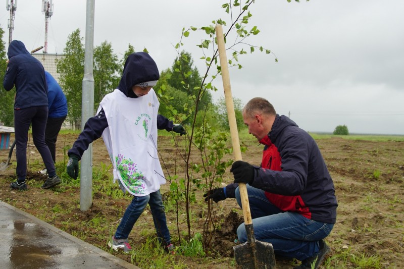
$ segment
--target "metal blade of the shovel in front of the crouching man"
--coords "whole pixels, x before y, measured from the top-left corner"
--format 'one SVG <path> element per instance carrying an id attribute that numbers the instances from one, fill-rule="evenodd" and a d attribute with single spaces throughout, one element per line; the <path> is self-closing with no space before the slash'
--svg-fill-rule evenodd
<path id="1" fill-rule="evenodd" d="M 234 246 L 234 257 L 243 269 L 274 269 L 276 266 L 274 248 L 271 243 L 255 241 Z M 255 252 L 255 253 L 254 253 Z"/>

